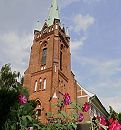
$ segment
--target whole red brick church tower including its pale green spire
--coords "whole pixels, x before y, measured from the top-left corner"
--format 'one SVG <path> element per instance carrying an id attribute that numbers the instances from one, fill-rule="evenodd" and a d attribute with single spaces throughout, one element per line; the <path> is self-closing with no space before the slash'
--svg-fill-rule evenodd
<path id="1" fill-rule="evenodd" d="M 30 99 L 38 102 L 40 120 L 45 119 L 51 104 L 68 92 L 76 101 L 76 81 L 71 71 L 70 37 L 61 27 L 57 1 L 52 0 L 49 15 L 41 30 L 34 30 L 29 67 L 24 87 Z"/>

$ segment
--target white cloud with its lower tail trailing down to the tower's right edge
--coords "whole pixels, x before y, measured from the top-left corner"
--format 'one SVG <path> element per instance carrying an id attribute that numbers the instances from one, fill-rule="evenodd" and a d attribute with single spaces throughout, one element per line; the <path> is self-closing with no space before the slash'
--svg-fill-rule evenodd
<path id="1" fill-rule="evenodd" d="M 84 45 L 85 40 L 87 39 L 85 32 L 92 24 L 94 24 L 95 20 L 93 17 L 89 15 L 82 16 L 81 14 L 78 14 L 74 17 L 73 21 L 74 26 L 71 27 L 70 30 L 78 33 L 79 37 L 81 34 L 80 31 L 83 31 L 83 36 L 81 35 L 81 38 L 71 41 L 71 51 L 76 51 L 77 49 L 81 48 Z"/>

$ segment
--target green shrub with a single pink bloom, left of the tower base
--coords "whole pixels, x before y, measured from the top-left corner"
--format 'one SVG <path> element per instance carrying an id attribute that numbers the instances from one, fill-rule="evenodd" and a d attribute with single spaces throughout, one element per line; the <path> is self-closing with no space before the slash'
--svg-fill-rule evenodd
<path id="1" fill-rule="evenodd" d="M 19 88 L 20 89 L 20 88 Z M 27 101 L 26 89 L 21 88 L 19 96 L 11 112 L 7 118 L 4 129 L 5 130 L 39 130 L 41 125 L 35 119 L 34 109 L 36 103 L 34 101 Z"/>

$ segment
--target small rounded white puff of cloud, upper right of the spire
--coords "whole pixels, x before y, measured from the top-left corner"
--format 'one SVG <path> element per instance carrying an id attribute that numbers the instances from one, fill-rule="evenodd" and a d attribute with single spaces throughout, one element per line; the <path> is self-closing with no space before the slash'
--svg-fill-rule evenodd
<path id="1" fill-rule="evenodd" d="M 74 24 L 75 28 L 74 30 L 76 32 L 86 31 L 92 24 L 94 24 L 95 19 L 94 17 L 90 15 L 83 16 L 81 14 L 78 14 L 74 18 Z"/>

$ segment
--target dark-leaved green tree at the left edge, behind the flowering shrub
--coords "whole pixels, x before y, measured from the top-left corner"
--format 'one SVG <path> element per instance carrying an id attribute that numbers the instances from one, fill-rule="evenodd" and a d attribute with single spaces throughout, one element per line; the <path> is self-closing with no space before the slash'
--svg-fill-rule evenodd
<path id="1" fill-rule="evenodd" d="M 0 129 L 7 120 L 10 108 L 17 100 L 18 74 L 11 71 L 10 65 L 4 65 L 0 71 Z"/>

